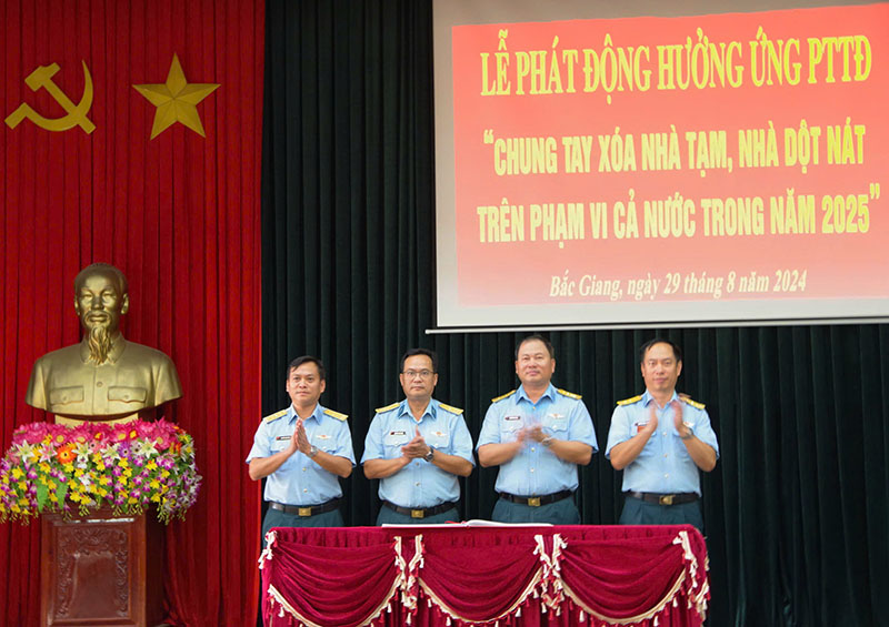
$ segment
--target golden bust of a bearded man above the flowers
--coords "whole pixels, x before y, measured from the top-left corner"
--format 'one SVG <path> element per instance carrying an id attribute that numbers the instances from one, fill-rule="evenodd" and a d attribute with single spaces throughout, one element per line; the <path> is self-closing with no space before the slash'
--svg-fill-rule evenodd
<path id="1" fill-rule="evenodd" d="M 182 387 L 172 361 L 123 338 L 120 318 L 129 306 L 120 270 L 107 263 L 81 270 L 74 279 L 74 311 L 83 338 L 37 360 L 26 403 L 56 414 L 57 422 L 77 424 L 64 418 L 126 422 L 179 398 Z"/>

